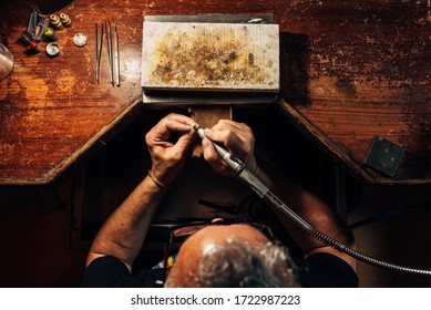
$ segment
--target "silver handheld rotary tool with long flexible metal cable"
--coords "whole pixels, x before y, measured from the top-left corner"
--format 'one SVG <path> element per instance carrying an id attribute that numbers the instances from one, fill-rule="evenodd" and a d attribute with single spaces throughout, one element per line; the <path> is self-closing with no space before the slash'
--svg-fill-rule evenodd
<path id="1" fill-rule="evenodd" d="M 193 128 L 197 132 L 198 136 L 202 140 L 207 138 L 205 136 L 204 130 L 199 125 L 194 125 Z M 271 193 L 264 183 L 261 183 L 249 169 L 246 168 L 245 164 L 238 157 L 230 154 L 229 151 L 218 145 L 217 143 L 212 143 L 218 155 L 237 174 L 239 179 L 242 179 L 246 185 L 248 185 L 253 190 L 255 190 L 256 194 L 264 198 L 267 203 L 273 205 L 277 210 L 290 218 L 296 225 L 299 226 L 300 229 L 307 231 L 308 234 L 310 234 L 310 236 L 312 236 L 320 242 L 376 267 L 409 275 L 431 277 L 431 270 L 398 266 L 371 258 L 365 254 L 351 249 L 347 245 L 314 228 L 309 223 L 307 223 L 299 215 L 297 215 L 289 206 L 287 206 L 280 198 L 278 198 L 274 193 Z"/>

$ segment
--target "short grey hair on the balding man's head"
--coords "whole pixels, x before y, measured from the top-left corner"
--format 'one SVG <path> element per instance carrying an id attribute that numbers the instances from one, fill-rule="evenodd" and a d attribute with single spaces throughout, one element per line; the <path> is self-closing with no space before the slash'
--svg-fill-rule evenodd
<path id="1" fill-rule="evenodd" d="M 284 247 L 268 242 L 252 246 L 227 239 L 204 252 L 195 278 L 198 287 L 296 287 L 290 257 Z"/>

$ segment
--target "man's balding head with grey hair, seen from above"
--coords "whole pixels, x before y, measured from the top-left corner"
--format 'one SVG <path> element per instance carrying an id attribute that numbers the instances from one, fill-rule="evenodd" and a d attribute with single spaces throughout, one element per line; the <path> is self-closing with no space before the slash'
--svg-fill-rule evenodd
<path id="1" fill-rule="evenodd" d="M 208 226 L 183 244 L 166 287 L 293 286 L 286 258 L 249 225 Z"/>

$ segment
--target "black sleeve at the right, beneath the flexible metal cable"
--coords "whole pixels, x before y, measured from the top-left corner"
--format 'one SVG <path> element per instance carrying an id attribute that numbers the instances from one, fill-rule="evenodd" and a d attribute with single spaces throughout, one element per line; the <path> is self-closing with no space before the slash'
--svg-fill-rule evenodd
<path id="1" fill-rule="evenodd" d="M 319 252 L 307 258 L 297 272 L 301 287 L 308 288 L 357 288 L 358 276 L 353 268 L 341 258 Z"/>

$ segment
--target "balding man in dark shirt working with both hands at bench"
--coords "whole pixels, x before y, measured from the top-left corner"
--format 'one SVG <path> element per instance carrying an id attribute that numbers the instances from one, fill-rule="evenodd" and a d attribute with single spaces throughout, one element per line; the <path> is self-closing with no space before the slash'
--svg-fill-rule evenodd
<path id="1" fill-rule="evenodd" d="M 278 216 L 283 217 L 286 234 L 305 252 L 306 267 L 295 267 L 284 247 L 271 242 L 254 227 L 235 224 L 207 226 L 188 237 L 166 280 L 157 275 L 157 269 L 132 272 L 153 216 L 185 165 L 187 149 L 196 137 L 192 130 L 195 124 L 185 115 L 170 114 L 146 134 L 151 170 L 94 238 L 82 286 L 357 287 L 353 258 L 325 246 L 281 215 Z M 179 138 L 171 142 L 174 133 Z M 319 198 L 257 163 L 254 135 L 246 124 L 222 120 L 205 130 L 205 134 L 204 158 L 217 173 L 233 176 L 209 140 L 244 161 L 250 172 L 314 227 L 353 247 L 351 231 Z"/>

